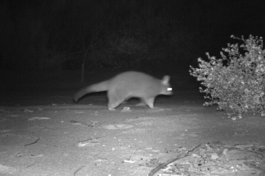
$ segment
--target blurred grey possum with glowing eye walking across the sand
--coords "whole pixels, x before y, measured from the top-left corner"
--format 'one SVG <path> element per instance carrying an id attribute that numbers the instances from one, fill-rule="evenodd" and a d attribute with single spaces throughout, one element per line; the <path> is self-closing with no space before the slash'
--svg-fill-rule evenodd
<path id="1" fill-rule="evenodd" d="M 156 79 L 146 73 L 128 71 L 97 84 L 92 84 L 78 91 L 73 99 L 77 101 L 85 94 L 91 92 L 107 91 L 109 99 L 108 109 L 115 110 L 125 100 L 138 97 L 141 104 L 147 104 L 154 108 L 154 100 L 157 95 L 171 95 L 172 90 L 168 90 L 170 77 L 164 76 L 162 80 Z"/>

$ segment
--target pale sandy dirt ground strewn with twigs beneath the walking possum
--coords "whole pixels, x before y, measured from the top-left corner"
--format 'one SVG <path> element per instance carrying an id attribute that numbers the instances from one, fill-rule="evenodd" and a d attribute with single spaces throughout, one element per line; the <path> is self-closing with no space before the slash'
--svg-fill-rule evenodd
<path id="1" fill-rule="evenodd" d="M 174 94 L 158 96 L 155 109 L 131 99 L 109 111 L 105 92 L 74 103 L 87 84 L 2 85 L 1 176 L 265 175 L 265 118 L 226 119 L 174 76 Z"/>

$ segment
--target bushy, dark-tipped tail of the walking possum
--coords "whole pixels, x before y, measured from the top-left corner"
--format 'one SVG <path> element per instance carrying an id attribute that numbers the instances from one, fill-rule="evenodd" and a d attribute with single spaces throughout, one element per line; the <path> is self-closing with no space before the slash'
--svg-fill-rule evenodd
<path id="1" fill-rule="evenodd" d="M 85 94 L 91 93 L 91 92 L 101 92 L 101 91 L 107 91 L 109 88 L 109 81 L 102 81 L 97 84 L 92 84 L 88 87 L 82 88 L 80 91 L 76 92 L 73 95 L 74 101 L 77 101 Z"/>

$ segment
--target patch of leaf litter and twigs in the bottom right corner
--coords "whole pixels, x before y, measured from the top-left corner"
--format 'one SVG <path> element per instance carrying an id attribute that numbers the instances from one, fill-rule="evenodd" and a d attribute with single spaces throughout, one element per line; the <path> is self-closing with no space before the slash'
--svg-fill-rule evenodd
<path id="1" fill-rule="evenodd" d="M 158 166 L 148 176 L 265 176 L 264 144 L 229 146 L 216 142 L 190 150 L 181 148 L 179 152 L 173 159 L 156 163 Z M 154 161 L 150 163 L 153 165 Z M 145 163 L 145 166 L 150 163 Z"/>

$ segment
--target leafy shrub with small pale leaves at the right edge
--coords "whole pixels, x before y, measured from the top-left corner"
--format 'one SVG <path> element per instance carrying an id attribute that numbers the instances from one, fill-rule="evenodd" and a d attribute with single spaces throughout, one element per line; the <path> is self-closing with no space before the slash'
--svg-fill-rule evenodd
<path id="1" fill-rule="evenodd" d="M 204 106 L 217 104 L 218 110 L 224 110 L 228 118 L 242 118 L 241 114 L 253 113 L 264 116 L 265 107 L 265 50 L 263 38 L 243 36 L 233 39 L 243 41 L 240 46 L 227 44 L 220 52 L 221 58 L 211 57 L 209 62 L 198 58 L 199 68 L 190 66 L 190 74 L 201 81 L 204 88 L 200 92 L 206 93 L 204 98 L 211 101 Z"/>

